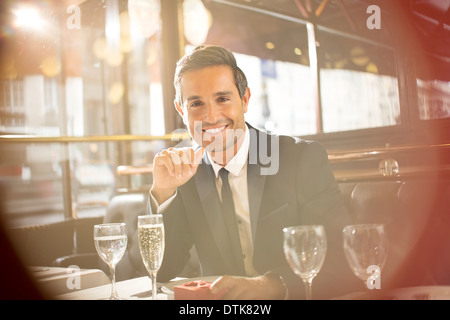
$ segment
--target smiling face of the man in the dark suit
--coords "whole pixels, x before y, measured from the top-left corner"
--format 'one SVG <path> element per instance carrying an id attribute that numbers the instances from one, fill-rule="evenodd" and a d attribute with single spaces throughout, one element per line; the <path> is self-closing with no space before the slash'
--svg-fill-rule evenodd
<path id="1" fill-rule="evenodd" d="M 239 97 L 230 67 L 188 71 L 180 88 L 182 106 L 177 102 L 175 106 L 198 145 L 214 153 L 242 142 L 250 90 L 247 88 L 243 99 Z"/>

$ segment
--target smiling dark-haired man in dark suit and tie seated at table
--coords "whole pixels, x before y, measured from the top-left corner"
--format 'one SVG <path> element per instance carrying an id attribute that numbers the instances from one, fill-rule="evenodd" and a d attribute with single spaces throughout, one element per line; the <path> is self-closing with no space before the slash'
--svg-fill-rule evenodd
<path id="1" fill-rule="evenodd" d="M 153 162 L 151 211 L 163 214 L 166 229 L 159 279 L 176 276 L 194 245 L 202 274 L 224 275 L 211 290 L 225 289 L 226 299 L 302 298 L 283 228 L 321 224 L 328 253 L 314 296 L 345 293 L 354 276 L 344 265 L 341 232 L 350 220 L 323 147 L 246 123 L 250 89 L 224 48 L 201 46 L 180 59 L 175 88 L 175 107 L 197 146 L 163 150 Z M 232 200 L 222 194 L 228 185 Z"/>

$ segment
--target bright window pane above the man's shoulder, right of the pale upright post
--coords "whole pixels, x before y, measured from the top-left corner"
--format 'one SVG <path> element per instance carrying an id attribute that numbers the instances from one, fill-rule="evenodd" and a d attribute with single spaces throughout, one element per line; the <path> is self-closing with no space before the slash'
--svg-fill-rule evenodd
<path id="1" fill-rule="evenodd" d="M 400 125 L 394 50 L 320 31 L 323 131 Z"/>

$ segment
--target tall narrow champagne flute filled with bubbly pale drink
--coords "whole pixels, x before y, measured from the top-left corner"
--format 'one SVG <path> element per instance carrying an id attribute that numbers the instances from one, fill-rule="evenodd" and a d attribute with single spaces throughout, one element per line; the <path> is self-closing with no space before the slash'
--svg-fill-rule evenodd
<path id="1" fill-rule="evenodd" d="M 157 299 L 156 274 L 164 256 L 164 223 L 161 214 L 138 216 L 139 250 L 152 280 L 152 299 Z"/>

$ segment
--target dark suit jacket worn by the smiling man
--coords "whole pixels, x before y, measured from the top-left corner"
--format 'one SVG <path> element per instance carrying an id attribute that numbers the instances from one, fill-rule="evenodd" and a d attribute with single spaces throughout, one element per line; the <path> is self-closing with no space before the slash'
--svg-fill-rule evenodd
<path id="1" fill-rule="evenodd" d="M 356 278 L 342 253 L 342 228 L 350 224 L 350 218 L 326 151 L 315 142 L 249 128 L 247 177 L 255 269 L 261 274 L 270 270 L 282 275 L 291 298 L 303 297 L 303 284 L 286 262 L 282 230 L 322 224 L 328 250 L 324 266 L 313 281 L 313 295 L 329 298 L 347 292 L 348 278 Z M 242 275 L 242 268 L 232 263 L 219 206 L 214 172 L 205 154 L 197 173 L 178 188 L 176 198 L 164 212 L 166 247 L 158 273 L 160 281 L 182 270 L 192 245 L 204 276 Z"/>

